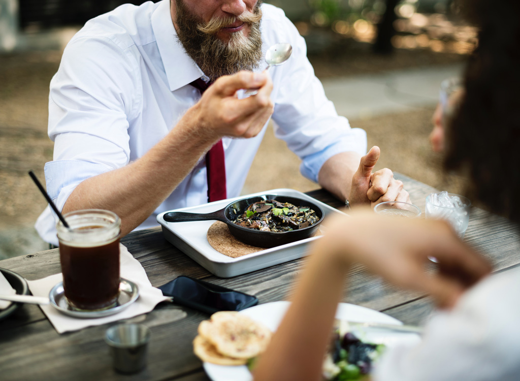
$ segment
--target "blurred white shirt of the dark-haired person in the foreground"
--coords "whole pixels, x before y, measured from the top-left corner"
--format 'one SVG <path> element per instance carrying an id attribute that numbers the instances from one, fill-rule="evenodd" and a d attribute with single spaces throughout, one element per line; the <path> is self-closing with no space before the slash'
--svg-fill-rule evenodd
<path id="1" fill-rule="evenodd" d="M 374 381 L 520 379 L 520 269 L 493 275 L 450 312 L 436 314 L 417 347 L 385 353 Z"/>

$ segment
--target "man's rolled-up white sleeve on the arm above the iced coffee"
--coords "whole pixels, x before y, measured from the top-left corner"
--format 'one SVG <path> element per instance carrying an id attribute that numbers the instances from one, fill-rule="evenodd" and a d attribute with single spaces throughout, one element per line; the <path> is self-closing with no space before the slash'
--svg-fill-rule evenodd
<path id="1" fill-rule="evenodd" d="M 106 37 L 80 34 L 64 51 L 50 84 L 48 132 L 55 144 L 54 160 L 45 165 L 59 209 L 82 181 L 129 162 L 136 72 L 124 46 Z"/>

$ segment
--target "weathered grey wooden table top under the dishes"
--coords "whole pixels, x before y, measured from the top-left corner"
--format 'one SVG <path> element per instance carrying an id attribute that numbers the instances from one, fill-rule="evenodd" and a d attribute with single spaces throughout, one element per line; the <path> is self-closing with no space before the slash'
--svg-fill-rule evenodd
<path id="1" fill-rule="evenodd" d="M 424 211 L 425 197 L 435 189 L 403 175 L 396 177 L 405 182 L 412 202 Z M 341 202 L 324 190 L 308 194 L 341 207 Z M 506 271 L 520 263 L 517 226 L 506 219 L 473 208 L 466 241 L 482 250 L 496 271 Z M 260 303 L 288 299 L 305 261 L 294 260 L 233 278 L 218 278 L 166 242 L 160 228 L 129 234 L 122 243 L 144 266 L 154 286 L 189 275 L 256 295 Z M 0 268 L 15 271 L 28 280 L 61 271 L 58 249 L 6 259 L 0 261 Z M 432 308 L 423 295 L 399 291 L 361 269 L 350 274 L 345 288 L 342 301 L 385 312 L 406 324 L 421 324 Z M 147 369 L 125 376 L 112 370 L 103 341 L 106 329 L 114 323 L 59 335 L 40 308 L 25 304 L 0 321 L 0 379 L 207 380 L 191 346 L 197 326 L 207 317 L 198 311 L 161 303 L 152 312 L 130 319 L 149 326 L 152 339 Z"/>

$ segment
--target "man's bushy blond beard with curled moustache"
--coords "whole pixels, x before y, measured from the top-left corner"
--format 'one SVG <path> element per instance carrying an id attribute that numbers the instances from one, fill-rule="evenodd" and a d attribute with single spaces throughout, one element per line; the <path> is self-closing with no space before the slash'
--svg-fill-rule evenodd
<path id="1" fill-rule="evenodd" d="M 184 0 L 175 0 L 177 5 L 177 36 L 186 53 L 212 81 L 222 75 L 240 70 L 253 71 L 262 59 L 261 0 L 253 12 L 244 12 L 239 17 L 213 18 L 204 23 L 184 5 Z M 243 31 L 230 34 L 228 42 L 218 39 L 216 33 L 236 20 L 251 26 L 249 37 Z"/>

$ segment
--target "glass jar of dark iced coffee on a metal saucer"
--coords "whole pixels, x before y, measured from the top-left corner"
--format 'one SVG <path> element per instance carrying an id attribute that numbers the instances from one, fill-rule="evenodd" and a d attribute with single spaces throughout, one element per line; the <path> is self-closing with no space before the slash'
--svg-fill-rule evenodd
<path id="1" fill-rule="evenodd" d="M 119 296 L 121 220 L 100 209 L 77 210 L 56 225 L 65 297 L 75 310 L 105 310 Z"/>

